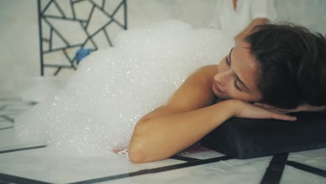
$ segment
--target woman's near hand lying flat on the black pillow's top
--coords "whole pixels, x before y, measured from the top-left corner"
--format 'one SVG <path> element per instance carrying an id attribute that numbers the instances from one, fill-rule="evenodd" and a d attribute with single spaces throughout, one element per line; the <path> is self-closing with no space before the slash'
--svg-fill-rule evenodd
<path id="1" fill-rule="evenodd" d="M 274 118 L 284 121 L 295 121 L 297 118 L 286 114 L 266 109 L 263 106 L 233 100 L 234 117 L 238 118 Z"/>

